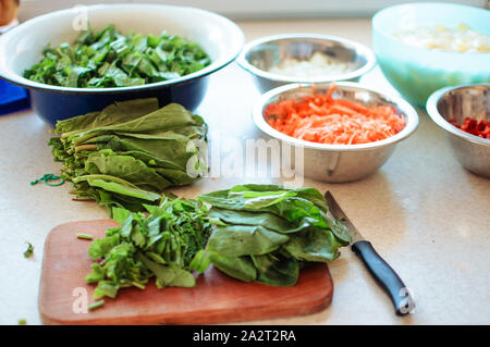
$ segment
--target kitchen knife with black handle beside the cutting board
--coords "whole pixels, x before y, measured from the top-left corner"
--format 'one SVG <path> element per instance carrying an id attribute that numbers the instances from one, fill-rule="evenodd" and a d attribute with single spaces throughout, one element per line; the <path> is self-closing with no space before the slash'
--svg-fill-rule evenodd
<path id="1" fill-rule="evenodd" d="M 378 284 L 388 293 L 397 315 L 405 315 L 415 308 L 414 299 L 405 284 L 394 272 L 394 270 L 376 252 L 371 243 L 364 239 L 348 218 L 336 203 L 330 191 L 324 195 L 329 205 L 329 212 L 339 223 L 342 223 L 351 235 L 351 249 L 365 263 Z"/>

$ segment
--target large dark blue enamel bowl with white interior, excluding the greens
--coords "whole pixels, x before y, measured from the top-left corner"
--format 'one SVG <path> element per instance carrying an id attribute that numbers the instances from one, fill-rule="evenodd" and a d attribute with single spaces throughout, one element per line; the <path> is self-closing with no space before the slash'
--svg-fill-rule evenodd
<path id="1" fill-rule="evenodd" d="M 195 111 L 206 95 L 209 75 L 230 64 L 244 44 L 243 32 L 236 24 L 195 8 L 120 3 L 89 5 L 83 10 L 94 30 L 114 24 L 123 34 L 133 30 L 158 35 L 167 30 L 191 39 L 209 54 L 211 64 L 175 79 L 133 87 L 72 88 L 40 84 L 24 78 L 24 71 L 40 61 L 40 52 L 48 44 L 73 42 L 79 29 L 73 24 L 76 16 L 73 9 L 35 17 L 0 36 L 0 77 L 28 89 L 35 112 L 52 126 L 59 120 L 130 99 L 158 98 L 161 107 L 176 102 Z"/>

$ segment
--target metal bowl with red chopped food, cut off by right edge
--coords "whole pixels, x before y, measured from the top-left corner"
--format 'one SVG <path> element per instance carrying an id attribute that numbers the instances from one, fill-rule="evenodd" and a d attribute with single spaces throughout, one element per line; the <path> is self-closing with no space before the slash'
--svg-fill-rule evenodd
<path id="1" fill-rule="evenodd" d="M 427 100 L 427 113 L 445 131 L 453 152 L 463 168 L 490 178 L 490 140 L 468 134 L 451 123 L 463 124 L 469 116 L 490 122 L 490 84 L 446 87 Z"/>

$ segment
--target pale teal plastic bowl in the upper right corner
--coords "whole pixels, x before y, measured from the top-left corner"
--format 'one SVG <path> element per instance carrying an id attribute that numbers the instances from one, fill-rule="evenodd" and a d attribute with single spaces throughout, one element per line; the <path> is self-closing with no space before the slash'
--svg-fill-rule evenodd
<path id="1" fill-rule="evenodd" d="M 442 2 L 416 2 L 385 8 L 372 17 L 372 48 L 381 71 L 411 103 L 425 107 L 443 87 L 490 82 L 490 53 L 434 51 L 401 42 L 392 35 L 406 25 L 464 23 L 490 35 L 490 11 Z"/>

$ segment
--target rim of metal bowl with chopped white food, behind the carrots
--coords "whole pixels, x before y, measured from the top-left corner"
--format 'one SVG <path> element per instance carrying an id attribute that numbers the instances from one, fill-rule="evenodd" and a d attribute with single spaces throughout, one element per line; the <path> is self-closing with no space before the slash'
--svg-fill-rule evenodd
<path id="1" fill-rule="evenodd" d="M 260 70 L 253 64 L 248 62 L 246 59 L 246 55 L 248 52 L 262 44 L 271 42 L 275 40 L 282 40 L 282 39 L 319 39 L 319 40 L 326 40 L 326 41 L 333 41 L 341 44 L 344 47 L 353 47 L 356 49 L 356 51 L 360 52 L 360 54 L 366 58 L 366 63 L 360 66 L 357 70 L 354 70 L 346 74 L 341 75 L 332 75 L 328 78 L 302 78 L 298 79 L 297 77 L 289 77 L 283 75 L 273 74 L 264 70 Z M 267 78 L 274 82 L 282 82 L 282 83 L 326 83 L 326 82 L 333 82 L 333 80 L 345 80 L 345 79 L 353 79 L 360 77 L 371 71 L 376 66 L 376 57 L 372 50 L 370 50 L 367 46 L 345 39 L 338 36 L 331 36 L 331 35 L 321 35 L 321 34 L 281 34 L 281 35 L 272 35 L 272 36 L 266 36 L 258 39 L 255 39 L 248 44 L 246 44 L 242 50 L 242 52 L 236 58 L 236 63 L 244 70 L 248 71 L 249 73 L 260 76 L 262 78 Z"/>

